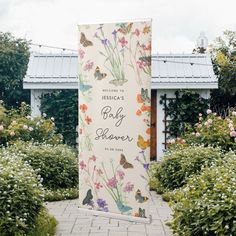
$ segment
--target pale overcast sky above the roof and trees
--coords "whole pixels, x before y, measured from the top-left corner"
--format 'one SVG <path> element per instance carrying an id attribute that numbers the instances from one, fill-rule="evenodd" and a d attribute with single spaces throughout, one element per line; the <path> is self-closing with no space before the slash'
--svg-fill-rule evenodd
<path id="1" fill-rule="evenodd" d="M 235 0 L 0 0 L 0 31 L 76 50 L 78 24 L 152 18 L 152 53 L 191 53 L 200 32 L 212 43 L 235 31 L 235 9 Z"/>

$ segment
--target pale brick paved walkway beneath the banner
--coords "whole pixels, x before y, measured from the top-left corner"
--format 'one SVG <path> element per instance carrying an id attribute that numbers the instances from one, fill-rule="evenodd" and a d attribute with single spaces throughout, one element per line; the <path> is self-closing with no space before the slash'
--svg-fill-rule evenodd
<path id="1" fill-rule="evenodd" d="M 78 210 L 78 199 L 47 203 L 49 212 L 58 221 L 56 236 L 171 236 L 165 222 L 171 209 L 161 196 L 151 192 L 151 224 L 89 216 Z"/>

